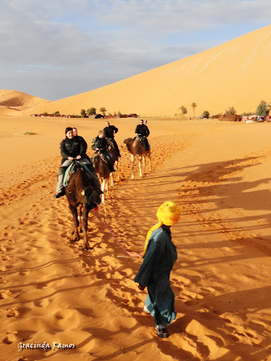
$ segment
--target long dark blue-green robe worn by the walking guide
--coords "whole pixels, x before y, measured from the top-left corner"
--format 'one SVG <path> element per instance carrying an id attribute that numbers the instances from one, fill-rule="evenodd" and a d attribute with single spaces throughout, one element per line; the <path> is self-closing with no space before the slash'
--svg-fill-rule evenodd
<path id="1" fill-rule="evenodd" d="M 145 305 L 155 317 L 156 324 L 171 324 L 176 318 L 174 293 L 169 283 L 169 275 L 176 259 L 176 246 L 171 242 L 169 227 L 163 225 L 155 229 L 133 281 L 147 287 Z"/>

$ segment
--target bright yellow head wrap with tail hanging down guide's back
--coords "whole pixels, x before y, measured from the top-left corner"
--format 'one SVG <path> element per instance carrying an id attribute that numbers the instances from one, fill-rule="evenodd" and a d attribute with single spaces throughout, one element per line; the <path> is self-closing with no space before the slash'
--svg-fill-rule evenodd
<path id="1" fill-rule="evenodd" d="M 155 229 L 161 227 L 163 224 L 165 224 L 166 226 L 172 226 L 172 224 L 176 224 L 180 219 L 181 207 L 179 207 L 179 205 L 174 202 L 164 202 L 158 208 L 156 215 L 158 218 L 158 223 L 155 224 L 155 226 L 153 226 L 152 228 L 150 228 L 150 231 L 147 232 L 147 238 L 142 257 L 145 256 L 147 245 L 149 243 L 152 232 L 155 231 Z"/>

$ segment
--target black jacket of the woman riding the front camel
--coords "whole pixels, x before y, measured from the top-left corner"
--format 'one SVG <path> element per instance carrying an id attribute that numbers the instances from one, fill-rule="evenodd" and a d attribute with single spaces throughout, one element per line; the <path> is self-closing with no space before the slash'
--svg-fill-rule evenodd
<path id="1" fill-rule="evenodd" d="M 66 137 L 60 143 L 60 152 L 63 158 L 61 164 L 64 163 L 68 157 L 76 158 L 78 155 L 80 155 L 82 158 L 85 158 L 85 152 L 87 150 L 86 147 L 88 147 L 88 145 L 83 137 L 76 136 L 72 139 L 68 139 L 68 137 Z"/>

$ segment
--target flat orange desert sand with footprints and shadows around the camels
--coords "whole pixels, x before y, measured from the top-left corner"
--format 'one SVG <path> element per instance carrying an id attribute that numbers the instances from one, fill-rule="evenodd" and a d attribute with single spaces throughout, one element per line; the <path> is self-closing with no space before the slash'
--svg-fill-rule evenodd
<path id="1" fill-rule="evenodd" d="M 111 123 L 121 146 L 138 119 Z M 133 282 L 142 259 L 94 212 L 92 250 L 71 243 L 66 197 L 53 197 L 64 128 L 77 126 L 90 145 L 104 121 L 2 114 L 0 124 L 1 360 L 271 360 L 270 123 L 149 118 L 153 170 L 139 178 L 136 166 L 134 181 L 120 147 L 121 181 L 98 214 L 121 244 L 142 252 L 157 207 L 182 209 L 171 228 L 177 318 L 167 339 Z M 18 352 L 44 342 L 76 349 Z"/>

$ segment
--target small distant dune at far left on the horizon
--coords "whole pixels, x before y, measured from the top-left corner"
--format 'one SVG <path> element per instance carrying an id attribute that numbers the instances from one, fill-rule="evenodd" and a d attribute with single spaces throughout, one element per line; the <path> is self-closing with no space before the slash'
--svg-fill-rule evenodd
<path id="1" fill-rule="evenodd" d="M 25 107 L 40 106 L 44 103 L 49 103 L 47 99 L 35 97 L 34 95 L 18 92 L 18 90 L 0 90 L 0 106 L 6 106 L 7 108 L 14 108 L 14 110 L 24 109 Z"/>

